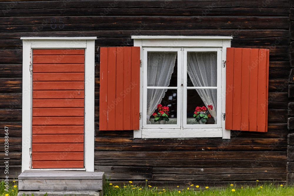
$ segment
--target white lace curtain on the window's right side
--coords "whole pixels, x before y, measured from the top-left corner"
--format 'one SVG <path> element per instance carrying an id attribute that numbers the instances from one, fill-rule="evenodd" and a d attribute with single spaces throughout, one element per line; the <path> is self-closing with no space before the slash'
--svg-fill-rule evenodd
<path id="1" fill-rule="evenodd" d="M 187 71 L 193 86 L 217 86 L 217 52 L 188 52 Z M 196 89 L 203 103 L 212 105 L 211 116 L 217 123 L 217 90 Z"/>

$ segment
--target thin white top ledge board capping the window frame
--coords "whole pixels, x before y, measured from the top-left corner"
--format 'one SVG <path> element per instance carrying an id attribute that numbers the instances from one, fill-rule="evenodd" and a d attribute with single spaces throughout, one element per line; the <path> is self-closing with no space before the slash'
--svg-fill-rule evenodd
<path id="1" fill-rule="evenodd" d="M 232 36 L 132 36 L 132 39 L 233 39 Z"/>

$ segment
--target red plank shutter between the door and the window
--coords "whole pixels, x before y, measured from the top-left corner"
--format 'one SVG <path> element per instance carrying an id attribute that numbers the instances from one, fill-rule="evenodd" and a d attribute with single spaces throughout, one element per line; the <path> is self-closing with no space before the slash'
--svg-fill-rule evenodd
<path id="1" fill-rule="evenodd" d="M 138 130 L 140 47 L 100 49 L 99 130 Z"/>

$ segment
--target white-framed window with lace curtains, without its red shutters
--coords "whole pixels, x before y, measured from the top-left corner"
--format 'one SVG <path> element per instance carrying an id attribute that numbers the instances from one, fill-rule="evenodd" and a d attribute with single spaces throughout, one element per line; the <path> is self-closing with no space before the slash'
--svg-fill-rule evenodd
<path id="1" fill-rule="evenodd" d="M 133 36 L 141 47 L 140 138 L 229 138 L 223 130 L 225 74 L 222 64 L 231 37 Z M 169 121 L 154 122 L 157 105 L 168 106 Z M 197 106 L 213 105 L 211 118 L 193 118 Z"/>

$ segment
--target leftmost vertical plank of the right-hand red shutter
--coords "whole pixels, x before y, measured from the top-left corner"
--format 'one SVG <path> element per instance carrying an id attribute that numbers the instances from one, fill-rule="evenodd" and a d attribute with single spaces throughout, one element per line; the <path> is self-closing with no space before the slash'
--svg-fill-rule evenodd
<path id="1" fill-rule="evenodd" d="M 225 89 L 225 129 L 232 130 L 234 48 L 227 48 Z"/>

